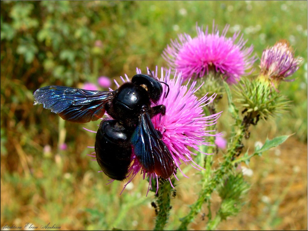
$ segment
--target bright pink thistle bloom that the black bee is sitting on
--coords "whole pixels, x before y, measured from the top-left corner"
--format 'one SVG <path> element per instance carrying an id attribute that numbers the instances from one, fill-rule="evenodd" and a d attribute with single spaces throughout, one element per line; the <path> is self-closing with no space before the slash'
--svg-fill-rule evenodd
<path id="1" fill-rule="evenodd" d="M 137 68 L 137 74 L 141 74 L 140 69 Z M 148 74 L 150 71 L 148 70 Z M 158 78 L 158 71 L 156 67 L 155 73 L 152 73 L 155 78 Z M 128 76 L 126 80 L 129 81 Z M 125 80 L 121 77 L 122 81 Z M 198 99 L 194 93 L 198 90 L 195 88 L 196 81 L 193 81 L 190 85 L 182 85 L 184 79 L 181 78 L 181 73 L 175 74 L 174 78 L 170 77 L 170 70 L 163 71 L 161 68 L 161 76 L 159 80 L 168 84 L 169 93 L 166 97 L 168 87 L 165 84 L 163 86 L 163 95 L 157 103 L 152 103 L 152 107 L 163 104 L 166 106 L 165 115 L 155 115 L 151 120 L 154 128 L 162 134 L 162 141 L 169 149 L 175 168 L 180 172 L 180 164 L 190 164 L 194 168 L 200 170 L 201 166 L 198 166 L 192 156 L 196 155 L 191 148 L 200 151 L 199 145 L 210 145 L 206 142 L 207 136 L 218 136 L 220 134 L 213 134 L 214 130 L 207 130 L 207 128 L 216 123 L 221 112 L 214 115 L 206 116 L 203 111 L 203 107 L 213 101 L 216 95 L 203 96 Z M 120 85 L 115 81 L 116 85 Z M 191 148 L 189 148 L 191 147 Z M 205 153 L 206 154 L 206 153 Z M 143 169 L 135 154 L 131 156 L 132 164 L 128 169 L 128 182 L 124 188 L 132 181 L 132 179 L 140 172 L 143 175 L 143 179 L 149 178 L 149 188 L 152 187 L 152 180 L 156 180 L 158 190 L 158 176 L 156 173 L 149 173 Z M 175 170 L 176 170 L 175 169 Z M 184 175 L 184 173 L 182 172 Z M 177 179 L 176 175 L 174 174 Z M 184 175 L 185 176 L 185 175 Z M 113 181 L 113 180 L 111 180 Z M 170 184 L 171 179 L 169 178 Z M 172 186 L 173 187 L 173 186 Z M 123 190 L 124 190 L 123 188 Z M 149 191 L 149 189 L 148 189 Z"/>

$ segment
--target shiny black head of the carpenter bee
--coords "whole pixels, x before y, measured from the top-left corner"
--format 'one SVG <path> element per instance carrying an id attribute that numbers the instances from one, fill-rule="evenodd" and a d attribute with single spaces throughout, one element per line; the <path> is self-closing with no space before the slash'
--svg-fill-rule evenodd
<path id="1" fill-rule="evenodd" d="M 163 87 L 160 82 L 149 75 L 134 75 L 132 78 L 132 83 L 144 87 L 144 89 L 148 91 L 153 102 L 157 102 L 162 95 Z"/>

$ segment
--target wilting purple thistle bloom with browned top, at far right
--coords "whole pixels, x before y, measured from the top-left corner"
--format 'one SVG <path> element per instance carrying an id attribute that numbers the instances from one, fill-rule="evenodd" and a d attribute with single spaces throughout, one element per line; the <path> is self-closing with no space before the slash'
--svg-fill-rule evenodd
<path id="1" fill-rule="evenodd" d="M 294 57 L 292 47 L 287 41 L 282 40 L 263 51 L 260 74 L 271 82 L 294 81 L 294 79 L 286 78 L 298 70 L 302 61 L 302 58 Z"/>

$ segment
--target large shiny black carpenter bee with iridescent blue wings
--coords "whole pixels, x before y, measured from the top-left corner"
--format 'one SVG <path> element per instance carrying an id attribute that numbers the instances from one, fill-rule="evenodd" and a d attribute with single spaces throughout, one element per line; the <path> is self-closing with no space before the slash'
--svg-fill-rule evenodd
<path id="1" fill-rule="evenodd" d="M 161 83 L 138 74 L 115 91 L 47 86 L 33 92 L 34 105 L 42 103 L 62 119 L 78 123 L 98 120 L 107 111 L 113 120 L 102 120 L 95 137 L 96 160 L 103 172 L 124 180 L 133 149 L 146 172 L 168 179 L 174 172 L 173 159 L 151 121 L 166 111 L 164 105 L 151 107 L 151 101 L 156 103 L 163 93 Z"/>

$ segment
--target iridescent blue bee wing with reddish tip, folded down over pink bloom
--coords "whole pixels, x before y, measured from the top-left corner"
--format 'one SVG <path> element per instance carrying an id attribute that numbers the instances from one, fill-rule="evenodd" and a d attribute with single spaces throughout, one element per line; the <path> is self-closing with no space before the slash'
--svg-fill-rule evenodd
<path id="1" fill-rule="evenodd" d="M 147 112 L 140 115 L 131 143 L 134 153 L 147 172 L 168 179 L 174 171 L 170 151 L 161 140 Z"/>

